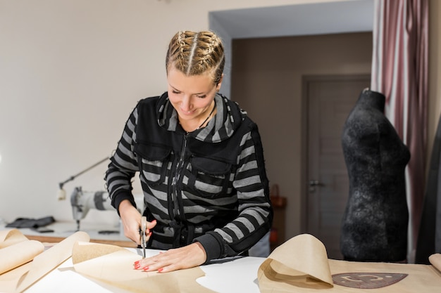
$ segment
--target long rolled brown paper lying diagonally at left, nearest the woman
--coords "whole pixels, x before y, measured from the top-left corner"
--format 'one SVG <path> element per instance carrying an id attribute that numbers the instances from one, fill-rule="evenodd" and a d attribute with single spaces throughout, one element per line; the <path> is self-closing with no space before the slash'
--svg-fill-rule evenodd
<path id="1" fill-rule="evenodd" d="M 53 247 L 35 256 L 33 261 L 25 263 L 0 275 L 1 293 L 20 293 L 37 282 L 44 275 L 66 261 L 72 255 L 73 245 L 77 241 L 87 242 L 89 235 L 76 232 Z M 30 240 L 29 240 L 30 241 Z"/>

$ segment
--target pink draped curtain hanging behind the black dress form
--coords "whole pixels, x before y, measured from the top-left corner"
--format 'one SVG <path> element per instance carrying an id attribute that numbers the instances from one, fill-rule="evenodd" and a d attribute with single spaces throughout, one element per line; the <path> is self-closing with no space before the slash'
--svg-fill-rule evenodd
<path id="1" fill-rule="evenodd" d="M 371 89 L 411 152 L 406 168 L 409 262 L 421 220 L 428 112 L 428 0 L 375 0 Z"/>

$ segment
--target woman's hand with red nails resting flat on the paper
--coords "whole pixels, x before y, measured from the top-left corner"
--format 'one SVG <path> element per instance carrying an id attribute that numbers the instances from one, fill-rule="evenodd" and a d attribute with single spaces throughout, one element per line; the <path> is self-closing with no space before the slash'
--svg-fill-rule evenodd
<path id="1" fill-rule="evenodd" d="M 166 273 L 182 268 L 194 268 L 195 266 L 200 266 L 205 261 L 206 252 L 204 247 L 199 242 L 194 242 L 185 247 L 170 249 L 156 256 L 135 261 L 133 266 L 137 270 Z"/>

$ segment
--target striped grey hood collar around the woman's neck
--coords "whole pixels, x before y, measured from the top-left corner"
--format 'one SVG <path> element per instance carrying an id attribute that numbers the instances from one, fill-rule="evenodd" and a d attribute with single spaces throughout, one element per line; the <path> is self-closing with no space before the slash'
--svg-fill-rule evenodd
<path id="1" fill-rule="evenodd" d="M 237 103 L 229 100 L 222 94 L 216 93 L 214 100 L 217 108 L 216 115 L 209 121 L 207 126 L 189 132 L 189 136 L 199 141 L 217 143 L 230 138 L 240 126 L 247 112 L 240 109 Z M 182 131 L 185 133 L 179 124 L 178 112 L 176 112 L 170 100 L 168 100 L 167 92 L 163 93 L 159 98 L 156 110 L 159 126 L 166 127 L 168 131 Z"/>

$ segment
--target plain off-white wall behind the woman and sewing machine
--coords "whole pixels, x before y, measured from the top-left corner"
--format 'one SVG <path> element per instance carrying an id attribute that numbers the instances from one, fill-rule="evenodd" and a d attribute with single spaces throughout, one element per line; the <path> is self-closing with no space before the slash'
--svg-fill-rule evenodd
<path id="1" fill-rule="evenodd" d="M 209 29 L 209 11 L 306 2 L 0 0 L 0 219 L 72 219 L 58 183 L 111 155 L 137 100 L 166 89 L 175 32 Z M 105 170 L 66 183 L 68 197 L 104 190 Z"/>

